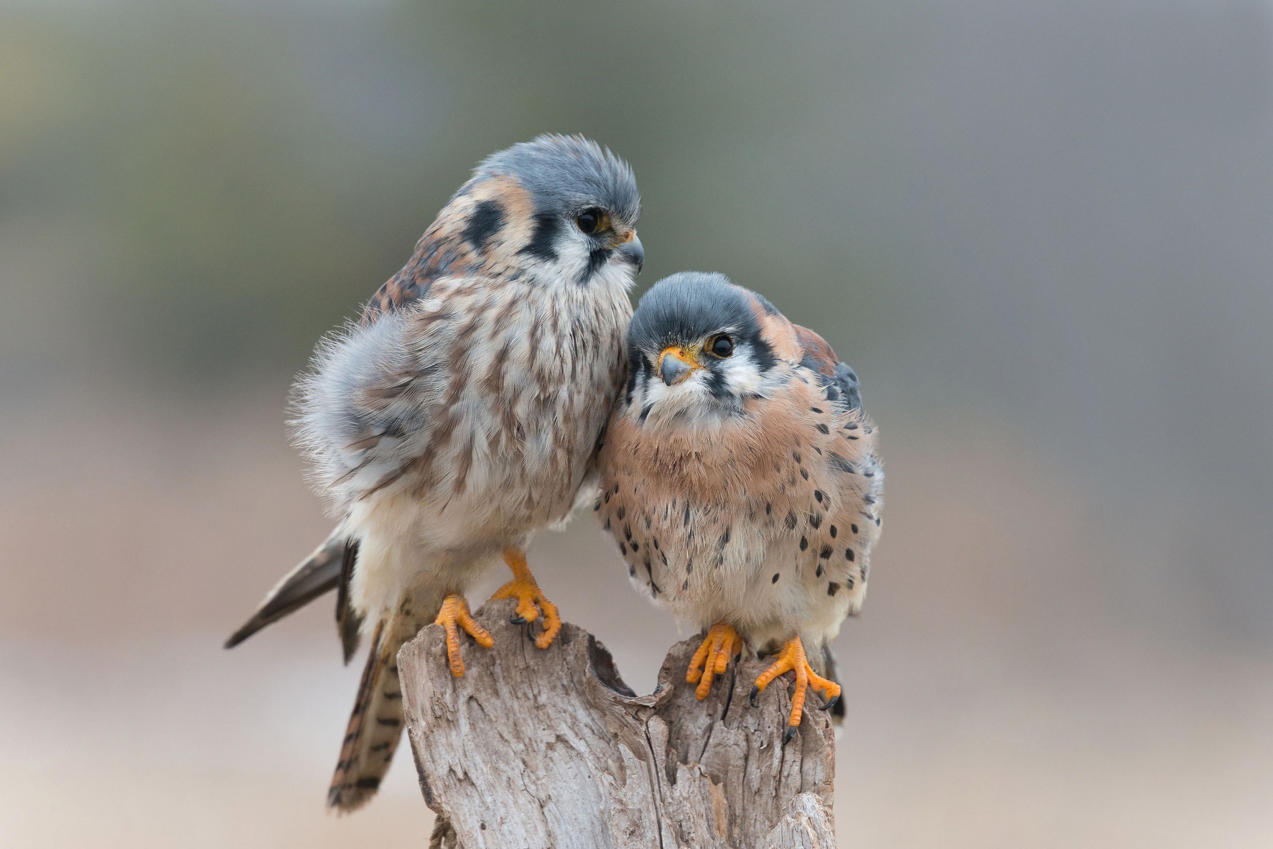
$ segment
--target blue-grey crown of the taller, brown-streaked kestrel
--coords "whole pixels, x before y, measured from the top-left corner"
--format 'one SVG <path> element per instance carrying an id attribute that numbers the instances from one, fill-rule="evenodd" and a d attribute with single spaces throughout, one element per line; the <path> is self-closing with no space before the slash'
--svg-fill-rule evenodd
<path id="1" fill-rule="evenodd" d="M 574 213 L 601 206 L 631 227 L 640 216 L 636 178 L 626 162 L 583 136 L 542 135 L 491 154 L 475 179 L 516 177 L 536 213 Z"/>

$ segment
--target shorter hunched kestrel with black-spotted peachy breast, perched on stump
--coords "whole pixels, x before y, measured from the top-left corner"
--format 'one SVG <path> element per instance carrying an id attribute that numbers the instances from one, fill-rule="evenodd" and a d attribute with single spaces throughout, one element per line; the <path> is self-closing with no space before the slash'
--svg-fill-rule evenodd
<path id="1" fill-rule="evenodd" d="M 743 642 L 807 690 L 840 695 L 829 643 L 867 589 L 882 474 L 858 378 L 811 330 L 718 274 L 656 284 L 597 458 L 594 509 L 633 583 L 709 629 L 686 681 L 704 699 Z M 825 676 L 825 677 L 824 677 Z"/>

